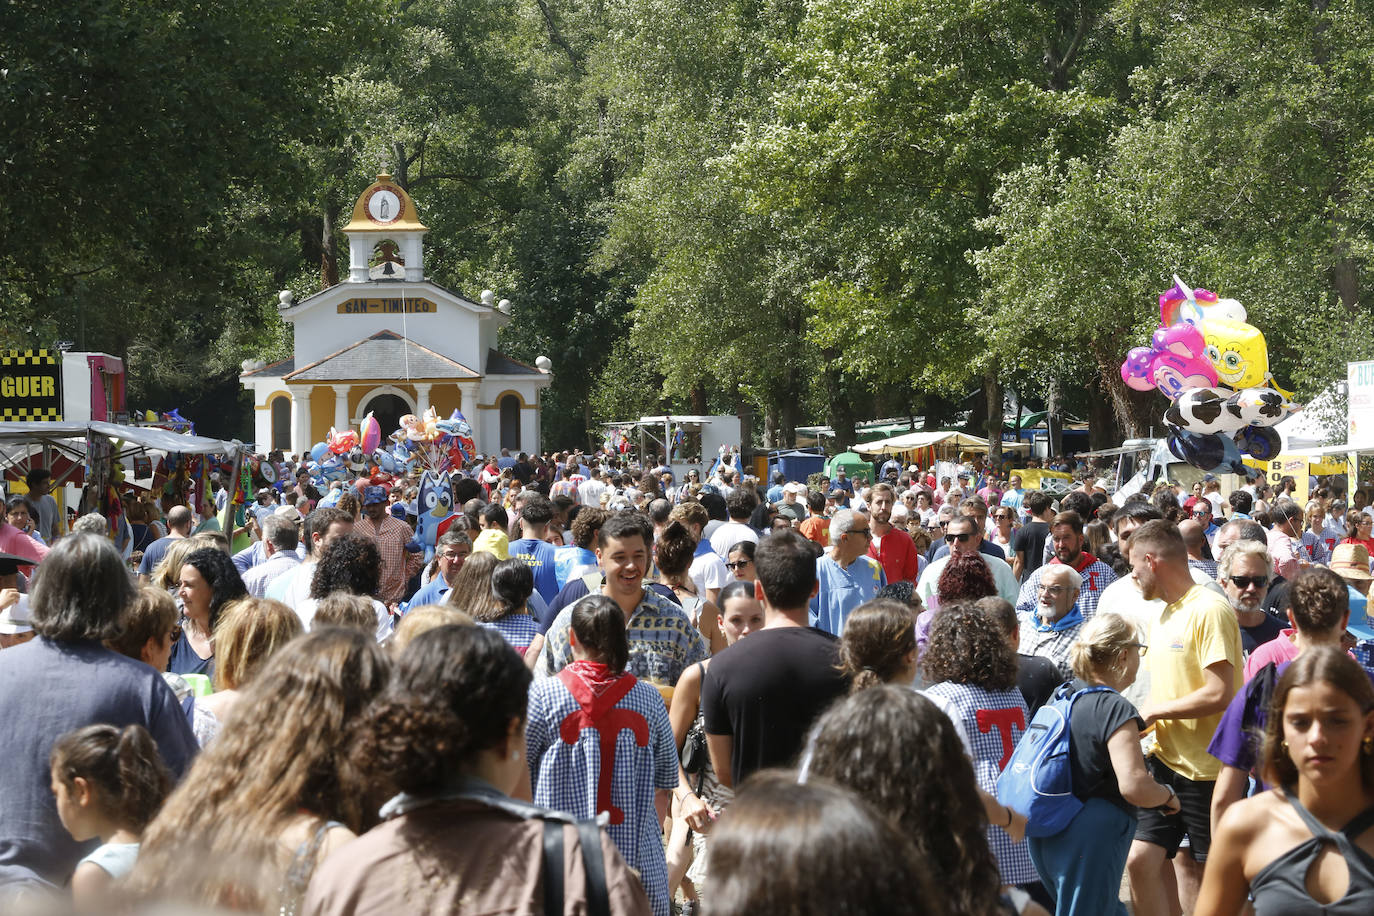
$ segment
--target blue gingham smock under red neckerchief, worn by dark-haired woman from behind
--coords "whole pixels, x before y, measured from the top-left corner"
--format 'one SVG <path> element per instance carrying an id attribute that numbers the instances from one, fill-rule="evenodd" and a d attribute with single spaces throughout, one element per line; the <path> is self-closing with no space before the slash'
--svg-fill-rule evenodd
<path id="1" fill-rule="evenodd" d="M 649 744 L 639 747 L 629 729 L 621 729 L 616 739 L 610 801 L 625 812 L 625 820 L 610 824 L 606 832 L 629 867 L 639 871 L 654 905 L 654 916 L 669 916 L 668 860 L 664 857 L 654 790 L 677 787 L 677 742 L 673 740 L 664 698 L 649 684 L 635 684 L 616 703 L 616 709 L 644 717 Z M 536 805 L 577 817 L 595 817 L 600 736 L 585 728 L 576 744 L 565 744 L 558 733 L 563 720 L 578 711 L 581 707 L 559 678 L 534 681 L 529 688 L 526 759 Z"/>

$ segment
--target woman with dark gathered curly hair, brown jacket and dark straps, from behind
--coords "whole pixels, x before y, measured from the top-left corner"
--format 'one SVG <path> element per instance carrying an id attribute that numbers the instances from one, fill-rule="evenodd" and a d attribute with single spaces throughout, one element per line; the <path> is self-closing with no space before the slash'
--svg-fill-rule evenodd
<path id="1" fill-rule="evenodd" d="M 316 871 L 304 913 L 595 912 L 583 836 L 599 839 L 611 916 L 649 912 L 605 831 L 510 798 L 528 777 L 529 683 L 492 630 L 440 626 L 415 637 L 354 747 L 367 772 L 400 794 L 382 809 L 385 823 Z M 541 879 L 551 838 L 562 845 L 556 902 Z"/>

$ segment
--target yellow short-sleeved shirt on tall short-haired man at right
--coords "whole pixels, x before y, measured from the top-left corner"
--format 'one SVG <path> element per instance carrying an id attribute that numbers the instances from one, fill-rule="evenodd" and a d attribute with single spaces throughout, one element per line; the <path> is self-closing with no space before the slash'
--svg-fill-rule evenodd
<path id="1" fill-rule="evenodd" d="M 1150 630 L 1150 703 L 1164 703 L 1201 689 L 1204 672 L 1231 663 L 1232 688 L 1242 681 L 1241 626 L 1231 604 L 1204 585 L 1194 585 L 1168 604 Z M 1221 713 L 1204 718 L 1161 718 L 1154 725 L 1157 755 L 1172 770 L 1210 781 L 1221 764 L 1206 753 Z"/>

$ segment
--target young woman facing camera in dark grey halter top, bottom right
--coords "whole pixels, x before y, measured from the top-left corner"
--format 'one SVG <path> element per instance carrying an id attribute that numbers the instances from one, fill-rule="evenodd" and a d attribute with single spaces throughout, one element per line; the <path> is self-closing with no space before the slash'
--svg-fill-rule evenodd
<path id="1" fill-rule="evenodd" d="M 1374 912 L 1374 684 L 1340 648 L 1279 677 L 1263 775 L 1274 788 L 1221 816 L 1194 912 Z"/>

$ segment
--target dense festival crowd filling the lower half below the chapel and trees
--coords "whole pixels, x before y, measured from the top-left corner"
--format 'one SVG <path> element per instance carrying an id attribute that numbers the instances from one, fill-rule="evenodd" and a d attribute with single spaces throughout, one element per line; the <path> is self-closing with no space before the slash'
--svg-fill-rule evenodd
<path id="1" fill-rule="evenodd" d="M 282 464 L 5 501 L 0 912 L 1374 912 L 1363 490 Z"/>

